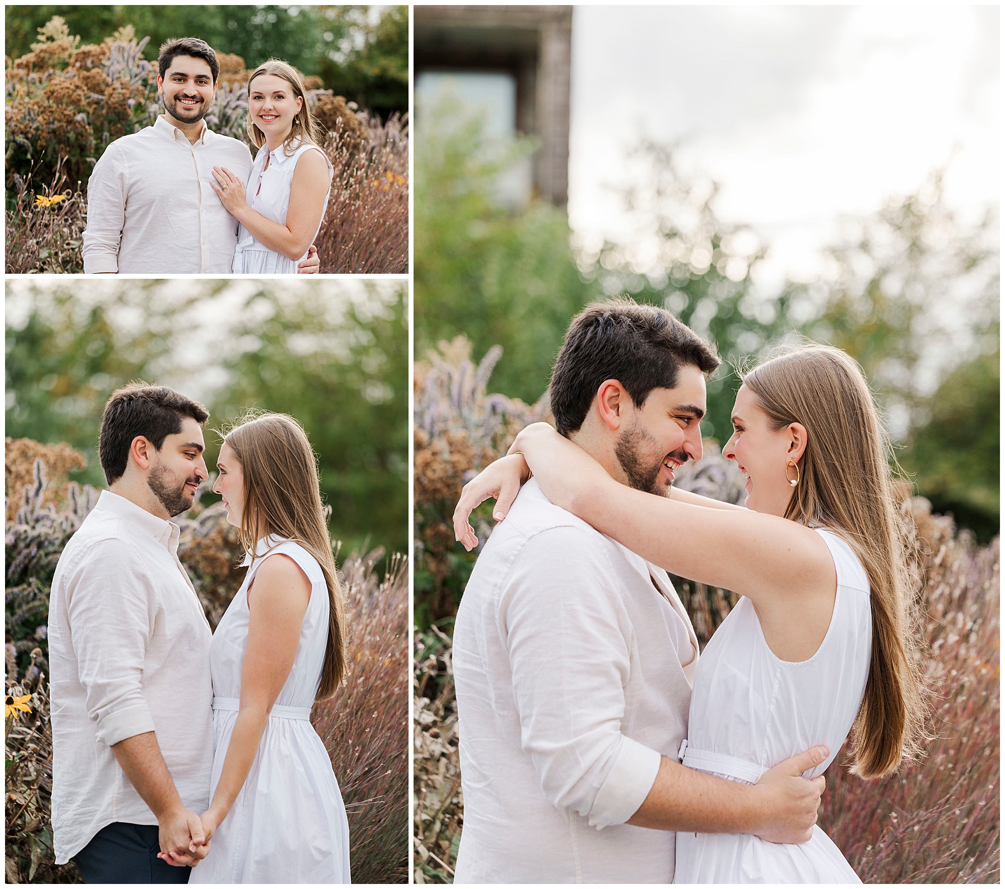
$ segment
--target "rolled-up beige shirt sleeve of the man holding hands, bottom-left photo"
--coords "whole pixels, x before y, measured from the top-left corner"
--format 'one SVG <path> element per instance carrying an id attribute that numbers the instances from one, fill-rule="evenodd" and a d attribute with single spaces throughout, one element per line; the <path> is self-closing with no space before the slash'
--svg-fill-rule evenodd
<path id="1" fill-rule="evenodd" d="M 99 551 L 67 579 L 66 604 L 87 715 L 97 724 L 97 739 L 112 746 L 154 730 L 143 670 L 158 600 L 128 543 L 102 540 L 94 548 Z"/>

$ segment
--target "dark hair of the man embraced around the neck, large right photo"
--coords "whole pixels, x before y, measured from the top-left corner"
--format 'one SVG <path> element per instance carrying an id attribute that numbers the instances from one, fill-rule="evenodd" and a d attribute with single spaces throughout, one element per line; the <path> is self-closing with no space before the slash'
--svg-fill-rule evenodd
<path id="1" fill-rule="evenodd" d="M 673 389 L 681 365 L 705 375 L 722 364 L 716 348 L 655 305 L 625 296 L 591 302 L 569 324 L 549 387 L 559 432 L 575 432 L 605 380 L 617 380 L 641 407 L 653 389 Z"/>

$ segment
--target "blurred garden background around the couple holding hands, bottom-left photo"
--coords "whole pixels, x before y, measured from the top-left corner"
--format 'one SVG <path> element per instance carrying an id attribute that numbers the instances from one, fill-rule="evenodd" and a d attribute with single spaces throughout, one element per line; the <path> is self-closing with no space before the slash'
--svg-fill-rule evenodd
<path id="1" fill-rule="evenodd" d="M 289 413 L 319 456 L 350 605 L 352 675 L 313 720 L 350 813 L 357 882 L 407 879 L 408 348 L 398 282 L 19 279 L 6 297 L 7 859 L 10 882 L 78 880 L 52 865 L 45 624 L 63 544 L 104 486 L 104 403 L 133 379 L 211 411 Z M 240 547 L 209 482 L 180 555 L 215 627 L 240 585 Z"/>

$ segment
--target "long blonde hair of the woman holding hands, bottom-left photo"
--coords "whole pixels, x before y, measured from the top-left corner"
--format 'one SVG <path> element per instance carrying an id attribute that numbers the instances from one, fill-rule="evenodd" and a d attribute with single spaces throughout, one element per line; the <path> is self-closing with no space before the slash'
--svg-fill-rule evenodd
<path id="1" fill-rule="evenodd" d="M 251 552 L 257 538 L 277 534 L 299 543 L 325 575 L 329 599 L 328 647 L 318 700 L 335 694 L 346 678 L 345 596 L 335 568 L 321 502 L 318 465 L 307 433 L 285 414 L 247 414 L 223 440 L 244 474 L 241 545 Z"/>

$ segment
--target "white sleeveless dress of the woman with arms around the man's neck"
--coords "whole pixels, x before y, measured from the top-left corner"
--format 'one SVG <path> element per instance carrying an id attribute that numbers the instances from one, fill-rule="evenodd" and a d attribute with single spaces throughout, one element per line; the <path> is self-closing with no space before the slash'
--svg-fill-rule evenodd
<path id="1" fill-rule="evenodd" d="M 837 755 L 865 691 L 872 613 L 865 571 L 851 546 L 817 528 L 837 571 L 830 627 L 813 657 L 799 663 L 768 647 L 749 599 L 742 598 L 698 659 L 682 761 L 690 768 L 756 784 L 783 759 L 825 743 Z M 806 843 L 768 843 L 750 834 L 678 833 L 675 883 L 860 883 L 819 827 Z"/>

